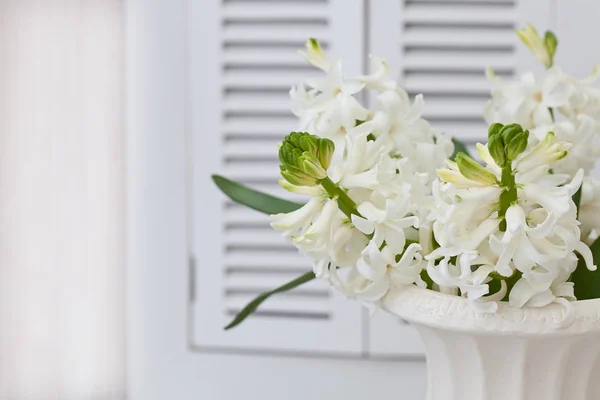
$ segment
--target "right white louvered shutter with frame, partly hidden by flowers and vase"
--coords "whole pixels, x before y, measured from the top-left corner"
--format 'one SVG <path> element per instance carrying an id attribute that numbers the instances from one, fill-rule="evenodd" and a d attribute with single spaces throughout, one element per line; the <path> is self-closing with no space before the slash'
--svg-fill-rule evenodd
<path id="1" fill-rule="evenodd" d="M 424 117 L 436 129 L 472 148 L 487 136 L 482 112 L 490 85 L 485 68 L 491 66 L 499 77 L 512 79 L 535 66 L 514 30 L 527 22 L 545 29 L 549 3 L 372 1 L 370 51 L 398 68 L 401 85 L 411 97 L 424 95 Z M 414 356 L 422 354 L 422 346 L 408 324 L 381 314 L 370 320 L 369 353 Z"/>

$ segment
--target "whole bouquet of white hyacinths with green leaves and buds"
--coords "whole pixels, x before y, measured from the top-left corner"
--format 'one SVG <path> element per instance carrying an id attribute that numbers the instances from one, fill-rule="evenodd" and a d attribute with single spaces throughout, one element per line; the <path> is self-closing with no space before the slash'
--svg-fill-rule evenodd
<path id="1" fill-rule="evenodd" d="M 378 304 L 390 290 L 417 285 L 470 300 L 482 313 L 513 307 L 566 308 L 600 297 L 600 90 L 553 65 L 556 37 L 528 26 L 518 35 L 546 71 L 503 83 L 488 70 L 487 144 L 479 161 L 421 118 L 389 78 L 346 78 L 310 39 L 302 56 L 323 71 L 290 91 L 298 132 L 279 147 L 280 184 L 304 205 L 215 182 L 234 201 L 271 215 L 313 270 L 259 296 L 228 328 L 270 295 L 322 279 L 350 298 Z M 374 93 L 366 108 L 357 94 Z M 483 132 L 482 132 L 483 133 Z"/>

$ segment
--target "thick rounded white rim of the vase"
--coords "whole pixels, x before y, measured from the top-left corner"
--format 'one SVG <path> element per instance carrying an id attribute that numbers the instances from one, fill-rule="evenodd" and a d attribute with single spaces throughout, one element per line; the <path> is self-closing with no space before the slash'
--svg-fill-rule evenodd
<path id="1" fill-rule="evenodd" d="M 469 300 L 417 286 L 391 290 L 382 308 L 408 322 L 433 328 L 481 335 L 552 335 L 600 333 L 600 299 L 581 300 L 567 306 L 511 307 L 499 302 L 494 314 L 477 312 Z"/>

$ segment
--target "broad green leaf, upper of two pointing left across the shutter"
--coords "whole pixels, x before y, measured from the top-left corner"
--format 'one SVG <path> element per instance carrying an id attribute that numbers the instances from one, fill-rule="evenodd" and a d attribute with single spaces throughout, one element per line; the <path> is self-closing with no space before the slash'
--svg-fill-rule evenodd
<path id="1" fill-rule="evenodd" d="M 302 207 L 302 204 L 280 199 L 270 194 L 262 193 L 250 189 L 238 182 L 232 181 L 220 175 L 213 175 L 213 182 L 225 193 L 231 200 L 243 204 L 256 211 L 266 214 L 279 214 L 295 211 Z"/>

